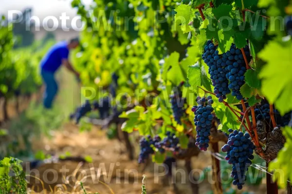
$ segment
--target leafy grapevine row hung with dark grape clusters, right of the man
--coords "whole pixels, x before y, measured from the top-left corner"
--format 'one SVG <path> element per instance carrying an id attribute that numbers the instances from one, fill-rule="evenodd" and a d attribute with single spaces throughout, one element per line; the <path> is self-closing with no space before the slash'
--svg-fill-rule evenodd
<path id="1" fill-rule="evenodd" d="M 106 21 L 111 22 L 109 28 L 101 24 L 101 30 L 84 33 L 82 42 L 89 46 L 80 51 L 81 55 L 79 52 L 75 61 L 82 71 L 84 83 L 105 88 L 110 85 L 114 97 L 121 93 L 130 93 L 133 97 L 135 106 L 121 113 L 120 117 L 127 119 L 124 131 L 139 131 L 143 136 L 139 162 L 145 162 L 152 154 L 156 162 L 163 162 L 158 160 L 165 159 L 169 153 L 175 155 L 188 145 L 194 146 L 189 144 L 191 138 L 196 139 L 196 146 L 206 150 L 213 118 L 219 119 L 219 129 L 224 132 L 228 129 L 246 132 L 242 134 L 234 130 L 230 134 L 232 139 L 240 136 L 239 146 L 238 140 L 234 140 L 236 145 L 231 145 L 234 146 L 232 150 L 241 150 L 242 145 L 250 147 L 246 148 L 245 155 L 244 151 L 237 151 L 244 155 L 243 159 L 239 157 L 240 161 L 231 156 L 234 159 L 231 163 L 248 164 L 252 160 L 249 149 L 255 146 L 256 154 L 267 158 L 264 157 L 265 146 L 269 142 L 259 139 L 257 121 L 272 122 L 273 129 L 278 125 L 285 126 L 290 121 L 286 114 L 292 111 L 292 105 L 287 103 L 290 96 L 286 92 L 292 89 L 288 84 L 291 82 L 288 73 L 291 68 L 292 44 L 288 36 L 291 14 L 285 13 L 289 10 L 286 8 L 288 2 L 280 5 L 272 1 L 173 0 L 157 3 L 146 0 L 143 3 L 121 3 L 114 0 L 108 5 L 108 2 L 97 0 L 91 7 L 96 13 L 107 7 Z M 79 9 L 78 13 L 87 25 L 94 28 L 94 22 L 86 15 L 87 10 L 81 1 L 73 0 L 72 5 Z M 111 7 L 125 7 L 116 13 L 119 19 L 110 17 Z M 263 8 L 270 10 L 259 15 L 256 11 Z M 156 10 L 164 10 L 164 14 Z M 286 31 L 281 30 L 279 23 L 275 24 L 274 31 L 269 29 L 274 27 L 270 17 L 279 13 L 283 18 L 286 16 Z M 155 15 L 155 21 L 150 17 L 152 15 Z M 125 22 L 125 16 L 134 16 L 127 30 L 120 26 Z M 233 24 L 229 25 L 223 19 L 225 17 L 229 17 Z M 164 22 L 157 22 L 162 20 Z M 253 25 L 255 22 L 257 25 Z M 135 29 L 138 23 L 143 24 L 143 28 Z M 110 80 L 113 74 L 115 76 Z M 185 110 L 177 104 L 178 100 L 182 101 L 180 95 L 169 95 L 172 87 L 177 87 L 182 81 L 185 83 L 182 89 L 187 94 Z M 120 85 L 115 87 L 116 83 Z M 153 103 L 149 106 L 137 103 L 149 93 L 156 95 Z M 217 98 L 194 99 L 203 96 L 202 93 Z M 267 100 L 267 105 L 261 103 L 263 99 Z M 191 111 L 195 118 L 190 115 Z M 226 151 L 230 155 L 231 150 L 226 148 Z M 239 182 L 236 171 L 233 174 L 240 189 L 243 183 Z"/>

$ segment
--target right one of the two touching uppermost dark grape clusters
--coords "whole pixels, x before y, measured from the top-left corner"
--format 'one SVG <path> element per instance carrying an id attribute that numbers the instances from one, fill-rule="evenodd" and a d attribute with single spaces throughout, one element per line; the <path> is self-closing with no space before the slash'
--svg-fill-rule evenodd
<path id="1" fill-rule="evenodd" d="M 249 49 L 244 48 L 247 58 L 250 57 Z M 245 61 L 240 49 L 237 49 L 235 44 L 232 44 L 229 51 L 223 53 L 222 62 L 225 63 L 228 73 L 226 78 L 229 80 L 228 88 L 232 90 L 232 96 L 241 100 L 243 97 L 240 93 L 240 87 L 245 83 L 244 74 L 246 72 Z"/>

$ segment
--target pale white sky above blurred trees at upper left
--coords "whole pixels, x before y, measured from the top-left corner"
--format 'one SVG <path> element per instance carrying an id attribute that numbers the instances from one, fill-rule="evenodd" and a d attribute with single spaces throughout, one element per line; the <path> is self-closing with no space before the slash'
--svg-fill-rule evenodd
<path id="1" fill-rule="evenodd" d="M 40 21 L 43 21 L 47 16 L 59 17 L 62 13 L 66 16 L 76 16 L 76 10 L 71 7 L 72 0 L 0 0 L 0 14 L 8 15 L 10 10 L 22 11 L 25 8 L 33 8 L 32 16 L 37 16 Z M 92 0 L 82 0 L 86 5 L 89 5 Z"/>

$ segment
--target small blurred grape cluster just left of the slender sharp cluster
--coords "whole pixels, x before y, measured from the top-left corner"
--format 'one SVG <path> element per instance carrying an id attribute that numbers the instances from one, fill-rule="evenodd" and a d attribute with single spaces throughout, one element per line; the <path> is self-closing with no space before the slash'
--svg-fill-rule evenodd
<path id="1" fill-rule="evenodd" d="M 182 125 L 181 118 L 185 110 L 183 109 L 185 98 L 182 97 L 182 94 L 174 94 L 170 96 L 171 109 L 173 112 L 174 120 Z"/>

